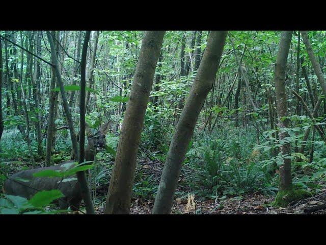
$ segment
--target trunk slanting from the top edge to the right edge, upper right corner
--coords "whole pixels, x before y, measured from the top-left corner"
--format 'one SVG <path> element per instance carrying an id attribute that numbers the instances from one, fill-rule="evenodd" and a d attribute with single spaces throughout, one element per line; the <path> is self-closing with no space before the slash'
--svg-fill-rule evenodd
<path id="1" fill-rule="evenodd" d="M 320 83 L 320 87 L 322 89 L 322 93 L 326 96 L 326 80 L 324 78 L 324 75 L 322 74 L 320 65 L 314 55 L 314 52 L 312 50 L 312 46 L 310 44 L 309 38 L 308 38 L 308 34 L 307 31 L 301 31 L 302 34 L 302 38 L 304 40 L 306 49 L 307 49 L 307 53 L 309 56 L 309 59 L 311 61 L 312 67 L 314 68 L 315 74 L 318 78 L 318 82 Z"/>

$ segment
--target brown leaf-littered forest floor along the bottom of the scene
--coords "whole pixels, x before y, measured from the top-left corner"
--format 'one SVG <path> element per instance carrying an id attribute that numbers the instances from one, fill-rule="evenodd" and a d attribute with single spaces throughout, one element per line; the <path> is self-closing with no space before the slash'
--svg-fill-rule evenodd
<path id="1" fill-rule="evenodd" d="M 274 197 L 262 194 L 243 195 L 241 200 L 234 198 L 222 202 L 214 200 L 195 201 L 195 208 L 188 205 L 188 200 L 178 200 L 173 204 L 173 214 L 326 214 L 326 189 L 313 197 L 291 203 L 286 208 L 271 207 Z M 154 203 L 132 200 L 130 214 L 151 214 Z M 95 207 L 96 214 L 103 214 L 102 207 Z M 196 210 L 196 211 L 195 211 Z"/>

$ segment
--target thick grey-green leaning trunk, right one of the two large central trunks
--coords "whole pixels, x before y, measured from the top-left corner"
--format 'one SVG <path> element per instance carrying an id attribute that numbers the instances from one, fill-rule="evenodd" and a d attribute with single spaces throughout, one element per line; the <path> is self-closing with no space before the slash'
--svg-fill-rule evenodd
<path id="1" fill-rule="evenodd" d="M 154 203 L 153 214 L 169 214 L 181 165 L 192 138 L 198 115 L 211 90 L 220 63 L 227 31 L 211 31 L 203 59 L 182 110 L 170 144 Z"/>

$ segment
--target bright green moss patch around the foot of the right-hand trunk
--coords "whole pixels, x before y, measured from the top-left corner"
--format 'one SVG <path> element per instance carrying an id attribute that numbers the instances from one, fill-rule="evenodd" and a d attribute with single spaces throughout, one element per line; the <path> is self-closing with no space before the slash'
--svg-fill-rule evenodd
<path id="1" fill-rule="evenodd" d="M 291 190 L 281 190 L 277 193 L 273 206 L 286 207 L 290 202 L 298 201 L 311 196 L 306 190 L 292 188 Z"/>

